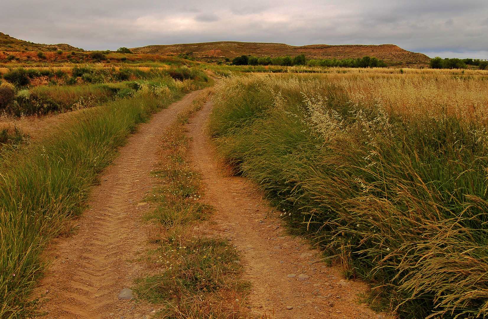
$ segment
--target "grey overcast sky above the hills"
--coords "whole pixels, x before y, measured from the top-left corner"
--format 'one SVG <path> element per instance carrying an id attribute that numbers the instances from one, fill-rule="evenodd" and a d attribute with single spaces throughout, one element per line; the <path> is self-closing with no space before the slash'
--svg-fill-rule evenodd
<path id="1" fill-rule="evenodd" d="M 487 0 L 0 0 L 0 32 L 85 50 L 207 41 L 385 44 L 488 59 Z"/>

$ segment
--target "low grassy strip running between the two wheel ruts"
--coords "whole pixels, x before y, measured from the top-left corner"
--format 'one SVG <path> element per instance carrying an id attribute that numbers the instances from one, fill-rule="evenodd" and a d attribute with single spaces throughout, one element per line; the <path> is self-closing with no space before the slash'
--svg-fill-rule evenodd
<path id="1" fill-rule="evenodd" d="M 226 239 L 194 231 L 212 207 L 200 201 L 202 181 L 186 161 L 184 124 L 207 97 L 197 97 L 164 134 L 160 168 L 153 171 L 161 184 L 148 200 L 157 208 L 145 218 L 160 229 L 153 238 L 158 247 L 147 255 L 157 274 L 138 279 L 135 291 L 139 298 L 164 304 L 161 318 L 246 317 L 249 284 L 240 279 L 239 255 Z"/>

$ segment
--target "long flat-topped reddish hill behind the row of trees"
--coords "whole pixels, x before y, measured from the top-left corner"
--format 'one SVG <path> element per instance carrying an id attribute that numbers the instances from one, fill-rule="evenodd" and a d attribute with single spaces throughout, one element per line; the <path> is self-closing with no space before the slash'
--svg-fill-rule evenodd
<path id="1" fill-rule="evenodd" d="M 305 54 L 308 59 L 346 59 L 362 58 L 364 56 L 376 57 L 386 62 L 407 62 L 425 64 L 430 58 L 422 53 L 404 50 L 394 44 L 382 45 L 327 45 L 311 44 L 293 46 L 284 43 L 259 43 L 259 42 L 203 42 L 184 43 L 171 45 L 148 45 L 140 48 L 132 48 L 134 53 L 159 53 L 166 55 L 189 55 L 195 59 L 212 60 L 222 58 L 235 58 L 242 55 L 257 57 L 296 56 Z"/>

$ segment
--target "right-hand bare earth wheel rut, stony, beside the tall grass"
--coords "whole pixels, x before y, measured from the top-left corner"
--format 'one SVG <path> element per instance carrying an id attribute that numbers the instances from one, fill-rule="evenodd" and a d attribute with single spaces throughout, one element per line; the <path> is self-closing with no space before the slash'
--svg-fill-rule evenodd
<path id="1" fill-rule="evenodd" d="M 361 281 L 346 280 L 339 267 L 319 262 L 317 251 L 286 235 L 277 213 L 246 179 L 225 174 L 213 160 L 204 133 L 211 112 L 208 102 L 190 120 L 190 156 L 202 172 L 206 202 L 217 212 L 208 226 L 211 234 L 231 239 L 244 257 L 245 275 L 253 289 L 247 308 L 264 318 L 391 318 L 358 304 L 366 290 Z M 278 213 L 279 215 L 279 213 Z"/>

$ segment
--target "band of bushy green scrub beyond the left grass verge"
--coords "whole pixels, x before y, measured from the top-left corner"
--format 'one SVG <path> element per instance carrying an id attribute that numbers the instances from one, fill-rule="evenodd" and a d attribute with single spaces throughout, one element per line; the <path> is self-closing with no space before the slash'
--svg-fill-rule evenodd
<path id="1" fill-rule="evenodd" d="M 196 68 L 107 68 L 88 64 L 73 68 L 20 67 L 3 78 L 13 86 L 0 88 L 0 108 L 16 117 L 90 107 L 130 97 L 144 86 L 171 91 L 180 83 L 188 84 L 188 80 L 208 81 L 207 75 Z"/>

